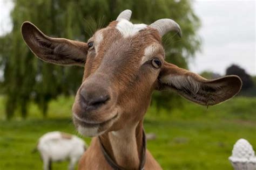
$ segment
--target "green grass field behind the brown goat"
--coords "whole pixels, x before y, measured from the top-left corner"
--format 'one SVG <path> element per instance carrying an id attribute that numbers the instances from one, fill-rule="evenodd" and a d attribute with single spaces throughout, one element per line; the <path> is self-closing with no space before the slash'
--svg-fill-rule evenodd
<path id="1" fill-rule="evenodd" d="M 77 134 L 71 121 L 73 98 L 60 97 L 50 103 L 48 118 L 42 118 L 31 105 L 25 121 L 4 121 L 4 98 L 0 98 L 0 169 L 42 169 L 39 154 L 32 154 L 37 139 L 49 131 Z M 156 111 L 151 107 L 145 117 L 146 132 L 157 134 L 147 148 L 164 169 L 232 170 L 228 157 L 239 138 L 256 147 L 256 98 L 233 98 L 209 107 L 183 101 L 184 107 Z M 85 138 L 90 144 L 90 138 Z M 66 169 L 68 162 L 53 164 Z"/>

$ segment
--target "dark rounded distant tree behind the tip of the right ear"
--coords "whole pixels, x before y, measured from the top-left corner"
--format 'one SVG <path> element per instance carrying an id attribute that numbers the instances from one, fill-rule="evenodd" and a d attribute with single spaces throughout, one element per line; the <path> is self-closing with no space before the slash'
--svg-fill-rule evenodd
<path id="1" fill-rule="evenodd" d="M 238 75 L 242 80 L 242 90 L 249 89 L 253 87 L 252 77 L 246 73 L 245 69 L 239 67 L 238 65 L 231 65 L 226 69 L 226 75 Z"/>

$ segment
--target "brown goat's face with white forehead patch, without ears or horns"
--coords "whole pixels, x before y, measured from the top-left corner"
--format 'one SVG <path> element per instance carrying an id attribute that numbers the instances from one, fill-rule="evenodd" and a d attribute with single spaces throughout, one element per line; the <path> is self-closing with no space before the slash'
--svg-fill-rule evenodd
<path id="1" fill-rule="evenodd" d="M 138 122 L 164 63 L 159 34 L 122 20 L 97 31 L 88 44 L 83 83 L 73 105 L 75 123 L 96 125 L 100 133 Z"/>

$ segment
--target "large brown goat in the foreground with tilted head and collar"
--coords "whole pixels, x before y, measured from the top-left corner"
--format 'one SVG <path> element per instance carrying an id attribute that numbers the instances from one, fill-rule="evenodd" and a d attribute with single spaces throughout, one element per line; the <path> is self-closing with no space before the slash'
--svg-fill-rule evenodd
<path id="1" fill-rule="evenodd" d="M 241 89 L 238 76 L 206 80 L 166 62 L 161 37 L 169 31 L 181 37 L 180 26 L 171 19 L 132 24 L 131 13 L 120 13 L 87 43 L 45 36 L 30 22 L 22 25 L 23 39 L 39 59 L 84 67 L 73 122 L 80 134 L 93 139 L 79 169 L 161 169 L 146 150 L 143 130 L 153 90 L 174 90 L 208 106 Z"/>

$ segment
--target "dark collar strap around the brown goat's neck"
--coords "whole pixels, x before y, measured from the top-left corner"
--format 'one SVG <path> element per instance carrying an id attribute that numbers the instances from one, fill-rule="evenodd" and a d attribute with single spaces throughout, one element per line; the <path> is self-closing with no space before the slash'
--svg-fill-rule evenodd
<path id="1" fill-rule="evenodd" d="M 114 169 L 114 170 L 125 170 L 125 168 L 120 167 L 119 165 L 117 165 L 113 159 L 111 159 L 110 155 L 106 152 L 105 147 L 102 144 L 102 141 L 99 138 L 99 143 L 100 143 L 100 148 L 102 150 L 102 153 L 107 161 L 107 163 L 109 163 L 109 165 Z M 143 129 L 143 137 L 142 137 L 142 158 L 140 158 L 140 165 L 139 165 L 139 170 L 144 170 L 144 165 L 145 165 L 145 161 L 146 161 L 146 146 L 147 145 L 147 141 L 146 141 L 146 135 Z"/>

